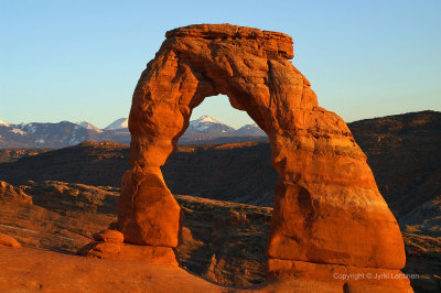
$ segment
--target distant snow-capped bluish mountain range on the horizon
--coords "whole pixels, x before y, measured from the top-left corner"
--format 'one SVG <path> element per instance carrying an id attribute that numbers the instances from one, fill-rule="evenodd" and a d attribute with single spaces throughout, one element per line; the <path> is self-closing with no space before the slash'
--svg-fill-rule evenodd
<path id="1" fill-rule="evenodd" d="M 180 144 L 226 143 L 244 141 L 265 141 L 266 133 L 257 126 L 249 124 L 234 129 L 208 116 L 190 121 L 190 126 L 180 140 Z M 104 129 L 87 121 L 76 123 L 21 123 L 11 124 L 0 120 L 0 149 L 7 148 L 51 148 L 60 149 L 83 141 L 111 141 L 130 143 L 128 119 L 120 118 Z"/>

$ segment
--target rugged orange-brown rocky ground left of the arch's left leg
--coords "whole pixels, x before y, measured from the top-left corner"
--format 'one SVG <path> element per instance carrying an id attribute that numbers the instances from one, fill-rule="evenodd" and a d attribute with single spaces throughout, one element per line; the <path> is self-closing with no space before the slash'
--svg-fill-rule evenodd
<path id="1" fill-rule="evenodd" d="M 22 188 L 33 204 L 0 202 L 0 232 L 23 247 L 75 253 L 116 220 L 119 188 L 62 182 L 29 182 Z"/>

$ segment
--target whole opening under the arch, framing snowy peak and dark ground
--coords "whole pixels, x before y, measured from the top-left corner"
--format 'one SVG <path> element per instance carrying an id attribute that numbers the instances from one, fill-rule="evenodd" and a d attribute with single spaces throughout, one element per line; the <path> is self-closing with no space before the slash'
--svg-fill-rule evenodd
<path id="1" fill-rule="evenodd" d="M 215 116 L 218 107 L 225 107 L 220 109 L 225 113 L 247 116 L 234 109 L 228 97 L 212 96 L 192 110 L 190 121 L 197 123 L 200 116 L 209 113 L 224 122 L 222 115 Z M 207 121 L 209 124 L 211 119 Z M 235 126 L 254 123 L 251 118 L 241 121 Z M 195 127 L 201 128 L 201 139 L 193 144 L 179 143 L 161 167 L 183 213 L 182 242 L 175 248 L 178 259 L 190 271 L 218 283 L 238 286 L 261 283 L 272 213 L 268 207 L 272 206 L 278 177 L 271 166 L 268 138 L 260 137 L 266 142 L 250 141 L 252 137 L 246 135 L 235 140 L 228 133 L 222 135 L 224 128 L 209 133 L 206 124 L 190 122 L 190 130 Z M 189 135 L 185 133 L 180 142 Z M 214 139 L 216 133 L 220 134 L 219 140 Z"/>

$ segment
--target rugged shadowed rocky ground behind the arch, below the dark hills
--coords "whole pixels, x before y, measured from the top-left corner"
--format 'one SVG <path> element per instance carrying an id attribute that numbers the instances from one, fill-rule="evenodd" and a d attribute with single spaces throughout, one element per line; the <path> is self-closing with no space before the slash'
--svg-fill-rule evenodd
<path id="1" fill-rule="evenodd" d="M 0 192 L 0 232 L 26 248 L 74 254 L 93 234 L 116 220 L 119 189 L 63 182 L 29 182 Z M 265 280 L 265 246 L 272 208 L 176 195 L 184 211 L 183 242 L 176 248 L 185 270 L 218 284 L 249 286 Z M 405 231 L 405 272 L 416 292 L 437 292 L 441 240 Z M 78 264 L 79 265 L 79 264 Z M 1 287 L 0 287 L 1 289 Z"/>

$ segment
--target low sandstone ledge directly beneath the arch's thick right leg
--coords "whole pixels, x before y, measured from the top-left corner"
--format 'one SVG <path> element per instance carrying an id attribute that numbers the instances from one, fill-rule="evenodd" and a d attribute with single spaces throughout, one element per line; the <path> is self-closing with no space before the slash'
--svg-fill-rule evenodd
<path id="1" fill-rule="evenodd" d="M 266 269 L 270 281 L 310 281 L 326 286 L 329 292 L 413 292 L 409 279 L 399 270 L 281 259 L 269 259 Z"/>

